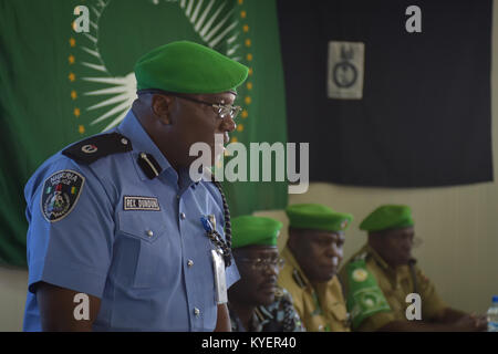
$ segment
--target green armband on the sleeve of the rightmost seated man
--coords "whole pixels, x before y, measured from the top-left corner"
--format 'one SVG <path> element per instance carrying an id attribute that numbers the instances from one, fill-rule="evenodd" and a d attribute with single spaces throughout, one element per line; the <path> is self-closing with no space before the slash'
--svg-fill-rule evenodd
<path id="1" fill-rule="evenodd" d="M 346 270 L 350 285 L 347 312 L 353 319 L 353 329 L 377 312 L 391 311 L 375 278 L 366 269 L 364 259 L 350 262 Z"/>

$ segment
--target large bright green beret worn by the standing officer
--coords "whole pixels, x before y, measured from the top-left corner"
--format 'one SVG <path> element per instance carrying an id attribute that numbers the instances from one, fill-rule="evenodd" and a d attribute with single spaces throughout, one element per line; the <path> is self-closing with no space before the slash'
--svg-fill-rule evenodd
<path id="1" fill-rule="evenodd" d="M 158 46 L 135 64 L 137 90 L 176 93 L 234 91 L 247 79 L 248 72 L 239 62 L 188 41 Z"/>

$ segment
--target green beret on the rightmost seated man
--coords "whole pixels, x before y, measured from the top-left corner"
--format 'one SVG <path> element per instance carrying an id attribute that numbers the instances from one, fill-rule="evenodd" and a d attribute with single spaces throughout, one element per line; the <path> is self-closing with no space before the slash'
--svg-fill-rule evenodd
<path id="1" fill-rule="evenodd" d="M 372 211 L 360 229 L 365 231 L 382 231 L 402 229 L 413 226 L 412 210 L 407 206 L 381 206 Z"/>

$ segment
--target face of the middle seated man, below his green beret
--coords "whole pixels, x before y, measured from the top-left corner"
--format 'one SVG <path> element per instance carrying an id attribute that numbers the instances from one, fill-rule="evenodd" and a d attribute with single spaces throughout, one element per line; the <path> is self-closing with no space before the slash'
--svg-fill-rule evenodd
<path id="1" fill-rule="evenodd" d="M 289 228 L 288 247 L 311 283 L 328 282 L 343 259 L 344 232 Z"/>

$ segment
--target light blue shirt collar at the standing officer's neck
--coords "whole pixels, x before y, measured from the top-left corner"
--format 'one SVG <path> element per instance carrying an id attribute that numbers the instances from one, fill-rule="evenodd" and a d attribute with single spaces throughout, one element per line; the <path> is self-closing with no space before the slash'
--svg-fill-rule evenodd
<path id="1" fill-rule="evenodd" d="M 132 140 L 134 152 L 147 153 L 153 155 L 162 168 L 160 174 L 164 174 L 168 169 L 173 169 L 167 158 L 163 155 L 157 145 L 152 140 L 147 132 L 145 132 L 144 127 L 138 122 L 132 110 L 128 111 L 123 122 L 117 127 L 117 132 Z M 135 159 L 134 163 L 135 165 L 137 165 L 137 162 Z M 141 169 L 138 166 L 136 167 Z M 147 179 L 144 174 L 141 174 L 141 177 L 142 179 Z"/>

